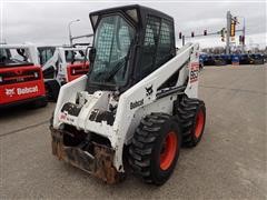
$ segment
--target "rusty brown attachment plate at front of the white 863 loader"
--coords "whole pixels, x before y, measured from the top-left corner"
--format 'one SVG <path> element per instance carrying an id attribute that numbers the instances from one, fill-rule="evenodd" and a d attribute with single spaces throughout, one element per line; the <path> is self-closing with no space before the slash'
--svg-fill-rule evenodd
<path id="1" fill-rule="evenodd" d="M 112 164 L 115 150 L 92 142 L 93 154 L 81 150 L 79 147 L 66 147 L 61 130 L 50 128 L 52 136 L 52 154 L 65 160 L 72 166 L 80 168 L 88 173 L 102 179 L 107 183 L 116 183 L 123 179 L 123 173 L 119 173 Z"/>

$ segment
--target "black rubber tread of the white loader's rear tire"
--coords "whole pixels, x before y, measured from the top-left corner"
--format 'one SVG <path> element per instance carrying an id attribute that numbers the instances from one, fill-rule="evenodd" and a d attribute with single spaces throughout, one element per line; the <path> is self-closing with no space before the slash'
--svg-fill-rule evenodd
<path id="1" fill-rule="evenodd" d="M 204 104 L 204 101 L 199 99 L 189 99 L 185 96 L 180 102 L 180 106 L 177 108 L 177 116 L 181 126 L 184 147 L 195 146 L 192 142 L 192 128 L 195 123 L 195 117 L 197 114 L 196 112 L 200 104 Z"/>

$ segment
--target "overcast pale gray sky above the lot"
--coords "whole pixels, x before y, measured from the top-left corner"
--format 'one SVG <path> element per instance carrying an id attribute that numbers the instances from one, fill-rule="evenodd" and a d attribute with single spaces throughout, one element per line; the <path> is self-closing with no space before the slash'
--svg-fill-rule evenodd
<path id="1" fill-rule="evenodd" d="M 71 26 L 72 34 L 91 32 L 89 12 L 125 4 L 142 4 L 168 13 L 175 18 L 177 44 L 178 32 L 190 36 L 215 32 L 226 26 L 226 12 L 246 17 L 246 42 L 266 46 L 266 1 L 13 1 L 0 0 L 1 39 L 8 43 L 36 42 L 46 44 L 68 43 L 68 22 L 80 19 Z M 243 22 L 243 19 L 240 18 Z M 240 24 L 241 28 L 243 23 Z M 238 33 L 239 36 L 239 33 Z M 238 37 L 236 37 L 238 41 Z M 220 36 L 190 39 L 201 47 L 224 46 Z"/>

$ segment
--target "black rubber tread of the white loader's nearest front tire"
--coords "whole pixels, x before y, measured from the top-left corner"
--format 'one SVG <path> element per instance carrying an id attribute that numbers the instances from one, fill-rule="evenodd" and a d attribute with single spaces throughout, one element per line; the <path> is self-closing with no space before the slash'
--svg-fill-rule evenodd
<path id="1" fill-rule="evenodd" d="M 159 134 L 160 124 L 169 118 L 170 116 L 166 113 L 152 113 L 144 118 L 129 148 L 129 164 L 136 176 L 141 177 L 147 183 L 152 183 L 150 174 L 152 144 Z"/>

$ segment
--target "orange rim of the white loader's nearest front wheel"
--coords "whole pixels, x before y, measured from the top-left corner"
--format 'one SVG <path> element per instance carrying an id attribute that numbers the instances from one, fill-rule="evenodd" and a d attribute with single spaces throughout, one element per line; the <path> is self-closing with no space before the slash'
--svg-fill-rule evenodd
<path id="1" fill-rule="evenodd" d="M 177 150 L 177 134 L 171 131 L 169 132 L 164 141 L 164 146 L 160 152 L 160 169 L 167 170 L 172 161 L 175 160 Z"/>

